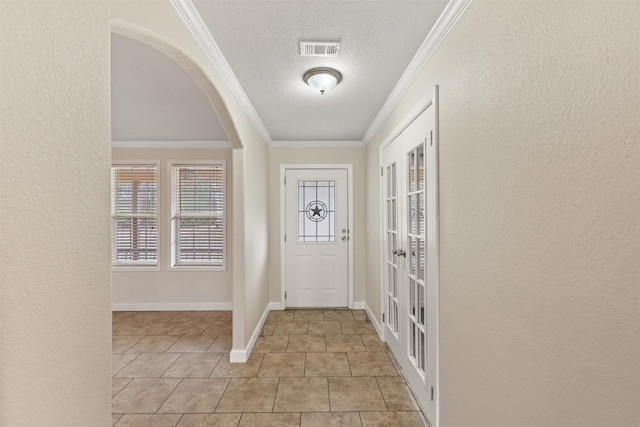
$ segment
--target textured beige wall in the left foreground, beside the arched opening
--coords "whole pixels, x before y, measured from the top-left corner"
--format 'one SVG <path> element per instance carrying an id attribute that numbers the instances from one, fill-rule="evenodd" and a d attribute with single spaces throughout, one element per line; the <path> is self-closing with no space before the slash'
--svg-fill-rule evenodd
<path id="1" fill-rule="evenodd" d="M 110 425 L 106 1 L 0 1 L 0 425 Z"/>

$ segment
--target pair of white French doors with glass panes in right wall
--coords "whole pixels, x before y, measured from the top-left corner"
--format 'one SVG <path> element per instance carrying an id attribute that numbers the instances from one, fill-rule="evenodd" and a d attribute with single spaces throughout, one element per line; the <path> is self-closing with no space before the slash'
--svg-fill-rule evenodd
<path id="1" fill-rule="evenodd" d="M 385 338 L 431 424 L 438 407 L 436 95 L 382 149 Z"/>

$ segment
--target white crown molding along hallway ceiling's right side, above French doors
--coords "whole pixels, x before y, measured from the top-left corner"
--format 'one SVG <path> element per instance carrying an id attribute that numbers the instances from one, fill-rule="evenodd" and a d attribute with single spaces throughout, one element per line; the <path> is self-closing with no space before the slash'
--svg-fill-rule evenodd
<path id="1" fill-rule="evenodd" d="M 416 52 L 380 111 L 378 111 L 369 129 L 365 132 L 362 138 L 365 145 L 371 142 L 376 132 L 380 130 L 382 123 L 389 117 L 389 114 L 398 101 L 400 101 L 400 98 L 402 98 L 407 89 L 409 89 L 409 86 L 415 81 L 420 71 L 427 65 L 429 59 L 431 59 L 436 49 L 438 49 L 440 43 L 447 37 L 449 31 L 456 25 L 472 2 L 473 0 L 451 0 L 444 8 L 433 28 L 424 39 L 424 42 L 422 42 L 420 49 Z"/>

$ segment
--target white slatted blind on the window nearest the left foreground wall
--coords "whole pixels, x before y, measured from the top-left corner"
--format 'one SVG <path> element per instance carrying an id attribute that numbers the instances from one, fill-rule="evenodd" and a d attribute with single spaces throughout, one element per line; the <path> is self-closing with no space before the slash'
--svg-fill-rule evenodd
<path id="1" fill-rule="evenodd" d="M 158 264 L 158 167 L 111 167 L 112 264 Z"/>

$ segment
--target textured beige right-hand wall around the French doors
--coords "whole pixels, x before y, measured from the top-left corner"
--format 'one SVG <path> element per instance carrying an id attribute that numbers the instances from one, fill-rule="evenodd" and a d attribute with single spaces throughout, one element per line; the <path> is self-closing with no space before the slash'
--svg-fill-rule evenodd
<path id="1" fill-rule="evenodd" d="M 440 86 L 443 427 L 640 422 L 638 22 L 475 1 L 368 146 L 375 227 L 378 145 Z"/>

